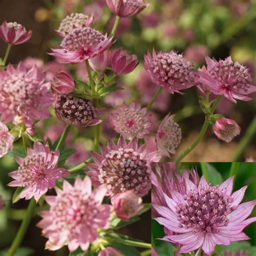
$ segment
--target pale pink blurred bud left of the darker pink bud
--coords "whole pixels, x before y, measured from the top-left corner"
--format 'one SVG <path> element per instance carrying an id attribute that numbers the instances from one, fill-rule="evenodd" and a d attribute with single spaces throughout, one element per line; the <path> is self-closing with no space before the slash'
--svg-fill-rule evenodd
<path id="1" fill-rule="evenodd" d="M 91 68 L 99 73 L 102 73 L 111 62 L 111 52 L 106 50 L 99 53 L 89 60 Z"/>

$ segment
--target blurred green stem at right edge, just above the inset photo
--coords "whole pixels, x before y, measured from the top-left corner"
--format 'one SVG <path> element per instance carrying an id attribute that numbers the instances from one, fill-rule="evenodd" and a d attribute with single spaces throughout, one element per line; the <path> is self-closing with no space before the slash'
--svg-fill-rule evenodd
<path id="1" fill-rule="evenodd" d="M 247 128 L 244 137 L 240 140 L 237 150 L 234 153 L 234 156 L 231 158 L 231 161 L 237 161 L 240 157 L 242 152 L 244 152 L 246 146 L 252 142 L 253 136 L 256 133 L 256 116 L 253 118 L 252 123 Z"/>

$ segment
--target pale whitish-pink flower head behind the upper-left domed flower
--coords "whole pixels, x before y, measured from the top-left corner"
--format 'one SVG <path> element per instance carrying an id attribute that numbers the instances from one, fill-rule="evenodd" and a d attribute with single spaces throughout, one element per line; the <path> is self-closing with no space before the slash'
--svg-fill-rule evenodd
<path id="1" fill-rule="evenodd" d="M 92 15 L 84 15 L 84 14 L 70 14 L 66 16 L 59 24 L 58 30 L 56 33 L 58 36 L 65 37 L 72 30 L 77 28 L 84 28 L 86 26 L 90 26 L 93 22 Z"/>

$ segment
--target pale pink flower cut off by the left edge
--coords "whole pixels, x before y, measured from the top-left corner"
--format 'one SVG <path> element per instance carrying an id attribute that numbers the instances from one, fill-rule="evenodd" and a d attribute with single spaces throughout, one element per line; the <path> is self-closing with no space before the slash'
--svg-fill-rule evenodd
<path id="1" fill-rule="evenodd" d="M 12 150 L 13 143 L 14 136 L 9 132 L 8 127 L 0 122 L 0 158 Z"/>

